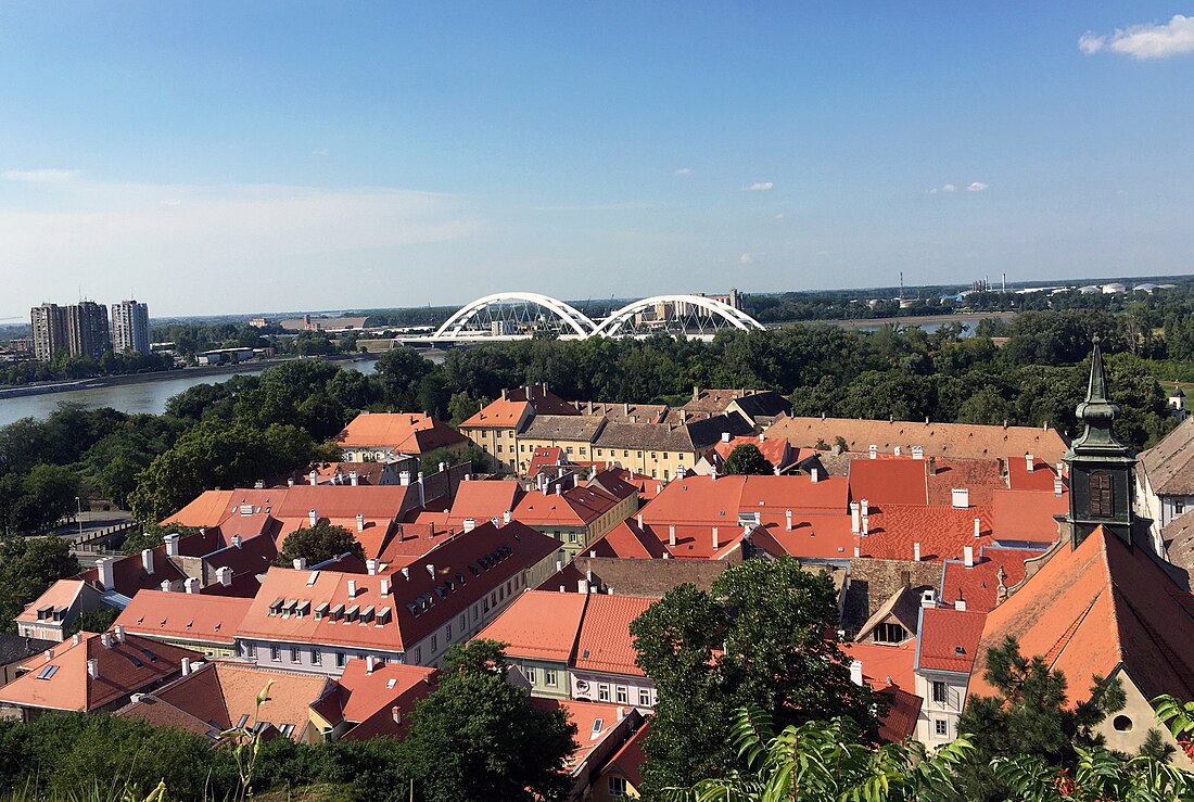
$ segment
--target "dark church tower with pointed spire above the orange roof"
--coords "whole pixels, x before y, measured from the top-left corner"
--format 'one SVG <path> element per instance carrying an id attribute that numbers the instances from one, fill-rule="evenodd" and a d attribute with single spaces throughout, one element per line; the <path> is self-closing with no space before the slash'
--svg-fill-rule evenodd
<path id="1" fill-rule="evenodd" d="M 1135 516 L 1132 512 L 1135 455 L 1115 437 L 1113 425 L 1119 407 L 1107 397 L 1107 377 L 1098 335 L 1090 357 L 1090 384 L 1087 400 L 1078 405 L 1078 421 L 1085 424 L 1082 437 L 1065 452 L 1070 467 L 1070 538 L 1075 547 L 1097 526 L 1132 545 Z"/>

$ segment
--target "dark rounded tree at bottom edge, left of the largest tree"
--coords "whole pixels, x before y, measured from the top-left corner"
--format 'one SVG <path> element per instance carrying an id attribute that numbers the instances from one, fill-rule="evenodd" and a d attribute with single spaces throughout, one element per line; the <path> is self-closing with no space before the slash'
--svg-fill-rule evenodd
<path id="1" fill-rule="evenodd" d="M 399 746 L 427 802 L 553 802 L 567 797 L 577 728 L 506 680 L 503 644 L 455 644 L 438 690 L 420 701 Z"/>

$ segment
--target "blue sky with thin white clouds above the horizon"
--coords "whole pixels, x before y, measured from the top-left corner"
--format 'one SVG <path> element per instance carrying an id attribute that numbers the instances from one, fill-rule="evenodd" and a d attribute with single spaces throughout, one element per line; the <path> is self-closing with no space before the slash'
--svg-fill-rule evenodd
<path id="1" fill-rule="evenodd" d="M 0 319 L 1190 272 L 1189 17 L 6 4 Z"/>

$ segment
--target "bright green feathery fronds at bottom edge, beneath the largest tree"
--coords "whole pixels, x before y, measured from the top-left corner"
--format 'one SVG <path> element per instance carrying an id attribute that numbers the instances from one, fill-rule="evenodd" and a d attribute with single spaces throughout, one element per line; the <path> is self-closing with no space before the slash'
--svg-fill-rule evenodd
<path id="1" fill-rule="evenodd" d="M 930 802 L 948 798 L 952 769 L 972 748 L 965 738 L 931 755 L 912 740 L 875 748 L 862 742 L 857 726 L 843 717 L 789 724 L 776 734 L 771 717 L 753 704 L 737 711 L 732 735 L 744 758 L 743 771 L 669 789 L 665 797 L 675 802 Z"/>

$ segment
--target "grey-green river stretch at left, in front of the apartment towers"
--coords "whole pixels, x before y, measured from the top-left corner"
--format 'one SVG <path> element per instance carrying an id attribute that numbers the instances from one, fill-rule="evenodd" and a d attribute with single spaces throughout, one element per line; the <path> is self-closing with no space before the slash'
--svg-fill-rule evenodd
<path id="1" fill-rule="evenodd" d="M 374 360 L 346 362 L 341 366 L 352 370 L 371 372 Z M 241 376 L 259 376 L 261 370 L 247 368 Z M 161 414 L 166 411 L 166 401 L 196 384 L 215 384 L 227 382 L 233 374 L 215 376 L 179 376 L 159 382 L 140 384 L 116 384 L 90 390 L 68 390 L 64 393 L 45 393 L 43 395 L 23 395 L 16 399 L 0 399 L 0 426 L 6 426 L 21 418 L 45 418 L 63 401 L 72 401 L 90 408 L 112 407 L 121 412 L 148 412 Z"/>

